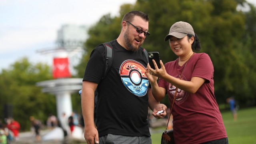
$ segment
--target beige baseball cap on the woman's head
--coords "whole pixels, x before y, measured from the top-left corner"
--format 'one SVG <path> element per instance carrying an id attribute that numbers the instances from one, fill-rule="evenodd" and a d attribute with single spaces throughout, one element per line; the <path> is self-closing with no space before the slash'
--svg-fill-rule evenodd
<path id="1" fill-rule="evenodd" d="M 176 38 L 184 38 L 187 34 L 191 34 L 195 36 L 194 29 L 187 22 L 176 22 L 170 28 L 169 34 L 164 38 L 164 41 L 167 41 L 171 36 L 175 36 Z"/>

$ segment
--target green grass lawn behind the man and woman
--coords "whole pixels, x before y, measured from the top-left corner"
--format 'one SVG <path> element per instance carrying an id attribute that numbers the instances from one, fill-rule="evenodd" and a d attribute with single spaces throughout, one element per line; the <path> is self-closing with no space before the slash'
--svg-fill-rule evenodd
<path id="1" fill-rule="evenodd" d="M 230 111 L 224 111 L 222 118 L 228 134 L 229 144 L 256 144 L 256 107 L 238 110 L 234 122 Z M 165 127 L 154 129 L 152 144 L 160 144 Z"/>

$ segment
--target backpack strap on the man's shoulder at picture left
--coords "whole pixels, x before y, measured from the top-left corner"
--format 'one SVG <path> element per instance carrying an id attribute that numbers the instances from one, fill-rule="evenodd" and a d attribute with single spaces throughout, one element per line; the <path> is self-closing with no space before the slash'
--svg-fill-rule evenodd
<path id="1" fill-rule="evenodd" d="M 108 71 L 110 70 L 112 62 L 113 62 L 113 55 L 114 55 L 114 51 L 112 50 L 112 45 L 110 44 L 110 42 L 105 42 L 103 44 L 103 46 L 105 48 L 106 62 L 105 62 L 105 72 L 104 72 L 104 76 L 102 79 L 104 79 L 106 77 L 106 75 L 108 74 Z"/>

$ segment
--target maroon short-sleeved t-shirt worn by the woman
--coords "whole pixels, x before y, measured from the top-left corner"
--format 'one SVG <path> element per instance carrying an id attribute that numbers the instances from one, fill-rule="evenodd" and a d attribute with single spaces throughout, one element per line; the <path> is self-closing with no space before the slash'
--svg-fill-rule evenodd
<path id="1" fill-rule="evenodd" d="M 176 59 L 164 66 L 169 75 L 180 78 L 185 64 L 179 66 L 178 59 Z M 200 77 L 206 81 L 195 94 L 178 89 L 172 109 L 176 144 L 199 144 L 227 137 L 214 96 L 213 73 L 212 61 L 205 53 L 194 54 L 186 65 L 182 80 L 190 81 L 192 77 Z M 161 78 L 158 85 L 167 90 L 172 104 L 176 86 Z"/>

